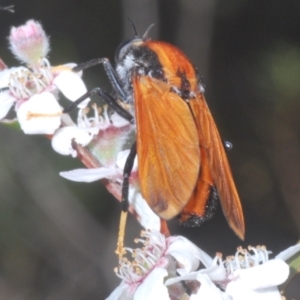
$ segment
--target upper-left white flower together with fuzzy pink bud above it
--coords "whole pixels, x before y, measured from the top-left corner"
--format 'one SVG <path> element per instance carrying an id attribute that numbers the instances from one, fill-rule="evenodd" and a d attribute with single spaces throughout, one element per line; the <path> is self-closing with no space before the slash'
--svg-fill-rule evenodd
<path id="1" fill-rule="evenodd" d="M 17 120 L 27 134 L 53 134 L 61 126 L 62 108 L 58 104 L 61 91 L 71 101 L 87 92 L 75 64 L 52 67 L 46 56 L 49 39 L 40 23 L 30 20 L 13 27 L 9 36 L 13 54 L 27 67 L 0 72 L 0 120 L 14 106 Z M 86 101 L 79 106 L 85 107 Z"/>

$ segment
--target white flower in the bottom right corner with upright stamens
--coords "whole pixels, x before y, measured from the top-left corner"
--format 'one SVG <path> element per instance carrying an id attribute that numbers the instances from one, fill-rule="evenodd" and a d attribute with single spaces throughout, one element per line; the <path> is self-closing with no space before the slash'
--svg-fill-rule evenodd
<path id="1" fill-rule="evenodd" d="M 289 266 L 283 261 L 300 251 L 300 245 L 293 246 L 269 260 L 265 247 L 249 247 L 253 252 L 238 248 L 234 257 L 221 261 L 217 255 L 206 269 L 168 279 L 166 285 L 180 280 L 197 280 L 200 288 L 191 299 L 228 300 L 280 300 L 277 286 L 289 275 Z M 226 270 L 226 272 L 224 272 Z"/>

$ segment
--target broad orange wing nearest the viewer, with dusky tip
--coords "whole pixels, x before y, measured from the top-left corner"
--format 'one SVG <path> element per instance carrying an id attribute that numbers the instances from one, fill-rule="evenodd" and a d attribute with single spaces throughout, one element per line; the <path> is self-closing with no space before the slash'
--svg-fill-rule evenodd
<path id="1" fill-rule="evenodd" d="M 142 195 L 160 217 L 171 219 L 189 201 L 199 175 L 194 117 L 160 80 L 134 76 L 133 89 Z"/>

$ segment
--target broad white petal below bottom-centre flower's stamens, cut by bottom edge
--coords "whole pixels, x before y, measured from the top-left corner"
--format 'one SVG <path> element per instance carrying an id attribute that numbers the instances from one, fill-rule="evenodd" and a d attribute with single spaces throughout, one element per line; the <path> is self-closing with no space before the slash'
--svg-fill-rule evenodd
<path id="1" fill-rule="evenodd" d="M 163 283 L 167 275 L 166 269 L 155 268 L 137 288 L 133 300 L 170 300 L 168 289 Z"/>

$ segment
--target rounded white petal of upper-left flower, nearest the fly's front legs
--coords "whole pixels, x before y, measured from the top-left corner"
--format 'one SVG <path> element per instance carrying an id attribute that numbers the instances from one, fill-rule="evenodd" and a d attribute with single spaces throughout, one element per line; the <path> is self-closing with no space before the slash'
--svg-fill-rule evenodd
<path id="1" fill-rule="evenodd" d="M 53 83 L 71 101 L 77 100 L 87 92 L 86 86 L 80 76 L 72 71 L 62 71 L 54 78 Z M 89 98 L 81 102 L 78 107 L 85 108 Z"/>

